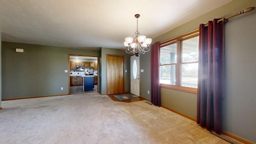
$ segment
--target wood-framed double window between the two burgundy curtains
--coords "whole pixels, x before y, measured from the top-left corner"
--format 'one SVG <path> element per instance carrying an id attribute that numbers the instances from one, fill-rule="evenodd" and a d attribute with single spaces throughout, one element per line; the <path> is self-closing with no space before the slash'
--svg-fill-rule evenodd
<path id="1" fill-rule="evenodd" d="M 199 32 L 160 43 L 160 86 L 197 93 Z"/>

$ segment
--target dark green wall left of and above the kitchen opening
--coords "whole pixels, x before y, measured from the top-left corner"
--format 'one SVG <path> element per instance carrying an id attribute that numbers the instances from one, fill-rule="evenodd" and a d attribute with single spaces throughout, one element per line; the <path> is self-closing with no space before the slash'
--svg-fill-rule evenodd
<path id="1" fill-rule="evenodd" d="M 2 42 L 2 99 L 68 94 L 68 54 L 99 51 Z"/>

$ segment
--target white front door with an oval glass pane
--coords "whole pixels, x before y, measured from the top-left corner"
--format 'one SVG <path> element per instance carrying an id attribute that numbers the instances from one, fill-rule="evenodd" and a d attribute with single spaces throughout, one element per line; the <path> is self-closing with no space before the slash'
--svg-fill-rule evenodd
<path id="1" fill-rule="evenodd" d="M 130 58 L 130 80 L 131 80 L 131 93 L 140 96 L 140 58 L 131 56 Z"/>

